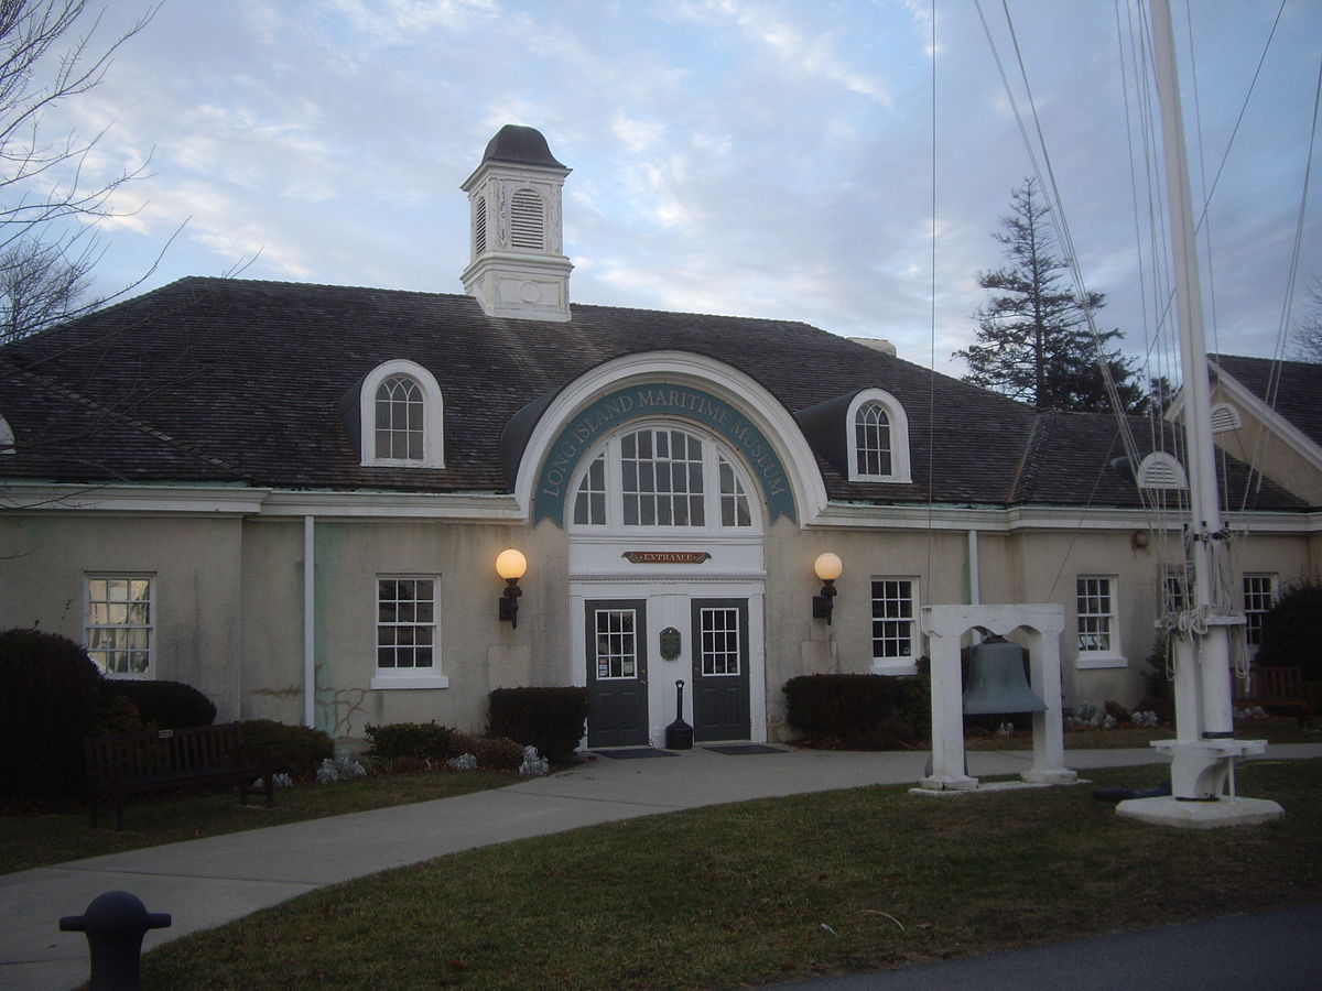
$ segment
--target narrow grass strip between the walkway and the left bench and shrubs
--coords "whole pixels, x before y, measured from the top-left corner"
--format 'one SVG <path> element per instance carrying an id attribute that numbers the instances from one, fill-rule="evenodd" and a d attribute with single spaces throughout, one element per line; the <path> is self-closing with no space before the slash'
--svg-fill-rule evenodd
<path id="1" fill-rule="evenodd" d="M 300 782 L 276 790 L 275 809 L 241 806 L 230 790 L 151 794 L 126 806 L 123 832 L 115 832 L 114 813 L 104 809 L 98 830 L 90 828 L 87 813 L 82 810 L 44 815 L 8 810 L 0 814 L 0 873 L 300 819 L 449 798 L 518 780 L 513 772 L 473 770 L 393 774 L 334 785 Z M 259 799 L 250 797 L 249 801 Z"/>

